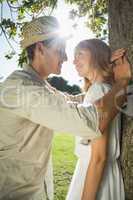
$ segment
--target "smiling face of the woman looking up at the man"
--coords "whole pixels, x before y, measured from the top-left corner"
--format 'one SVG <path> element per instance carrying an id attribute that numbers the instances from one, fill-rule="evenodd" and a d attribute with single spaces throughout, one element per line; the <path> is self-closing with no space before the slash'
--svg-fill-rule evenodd
<path id="1" fill-rule="evenodd" d="M 91 67 L 91 52 L 88 49 L 77 49 L 75 51 L 75 57 L 74 57 L 74 65 L 76 67 L 76 70 L 81 77 L 91 76 L 92 69 Z"/>

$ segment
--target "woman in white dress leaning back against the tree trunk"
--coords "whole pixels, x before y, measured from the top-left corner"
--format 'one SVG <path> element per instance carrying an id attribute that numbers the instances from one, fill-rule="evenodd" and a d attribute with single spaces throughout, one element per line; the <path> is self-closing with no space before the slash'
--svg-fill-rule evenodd
<path id="1" fill-rule="evenodd" d="M 96 101 L 110 90 L 114 81 L 110 59 L 111 50 L 101 40 L 83 40 L 77 45 L 74 64 L 85 80 L 84 104 Z M 119 165 L 120 114 L 99 139 L 76 138 L 75 152 L 78 161 L 66 200 L 125 199 Z"/>

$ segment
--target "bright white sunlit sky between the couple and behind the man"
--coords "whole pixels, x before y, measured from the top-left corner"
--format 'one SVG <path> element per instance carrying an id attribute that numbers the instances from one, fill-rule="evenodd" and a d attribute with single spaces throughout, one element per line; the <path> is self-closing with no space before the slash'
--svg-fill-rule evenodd
<path id="1" fill-rule="evenodd" d="M 78 76 L 73 63 L 73 52 L 76 44 L 83 39 L 92 38 L 94 34 L 85 26 L 85 18 L 76 19 L 78 24 L 77 28 L 72 28 L 73 21 L 69 18 L 70 10 L 75 7 L 72 5 L 65 4 L 63 0 L 59 0 L 58 7 L 52 14 L 57 17 L 62 35 L 72 35 L 72 37 L 67 41 L 66 52 L 68 55 L 68 61 L 65 62 L 62 66 L 61 76 L 68 80 L 70 85 L 81 84 L 81 78 Z M 5 8 L 6 9 L 6 8 Z M 7 9 L 6 9 L 7 10 Z M 5 12 L 6 16 L 9 15 L 8 12 Z M 11 60 L 7 60 L 4 55 L 5 52 L 8 52 L 9 45 L 4 37 L 0 37 L 0 75 L 5 78 L 15 69 L 17 69 L 17 56 Z M 16 51 L 18 51 L 18 44 L 13 44 Z"/>

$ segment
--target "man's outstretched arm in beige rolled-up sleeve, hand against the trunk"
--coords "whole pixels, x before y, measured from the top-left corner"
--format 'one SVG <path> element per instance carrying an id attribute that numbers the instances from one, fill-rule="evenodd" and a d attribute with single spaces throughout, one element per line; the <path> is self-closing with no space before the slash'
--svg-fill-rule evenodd
<path id="1" fill-rule="evenodd" d="M 123 65 L 126 71 L 129 70 L 127 63 Z M 124 67 L 121 65 L 121 69 Z M 127 72 L 124 72 L 122 76 L 127 78 Z M 5 87 L 2 84 L 0 107 L 50 129 L 74 133 L 86 139 L 95 139 L 101 135 L 100 130 L 103 131 L 118 112 L 115 106 L 115 95 L 127 86 L 127 83 L 123 84 L 124 82 L 122 80 L 122 84 L 116 83 L 112 91 L 100 102 L 86 107 L 67 103 L 64 95 L 51 92 L 47 87 L 23 86 L 21 83 L 20 86 L 19 84 L 16 86 L 16 81 L 14 85 L 14 81 L 12 83 L 10 80 L 9 88 L 7 88 L 7 84 Z M 122 99 L 119 97 L 118 101 L 122 105 L 124 97 Z M 102 109 L 101 102 L 103 103 Z M 99 118 L 100 110 L 102 110 L 102 116 L 106 114 L 105 120 Z"/>

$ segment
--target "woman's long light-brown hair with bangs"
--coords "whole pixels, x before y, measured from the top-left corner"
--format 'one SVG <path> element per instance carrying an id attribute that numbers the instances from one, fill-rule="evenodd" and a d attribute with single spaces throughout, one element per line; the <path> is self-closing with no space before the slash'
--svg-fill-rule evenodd
<path id="1" fill-rule="evenodd" d="M 105 82 L 112 84 L 113 70 L 110 65 L 111 49 L 110 47 L 99 39 L 82 40 L 75 48 L 86 49 L 91 53 L 91 65 L 97 68 L 103 74 Z M 87 78 L 84 78 L 84 90 L 87 91 L 91 83 Z"/>

